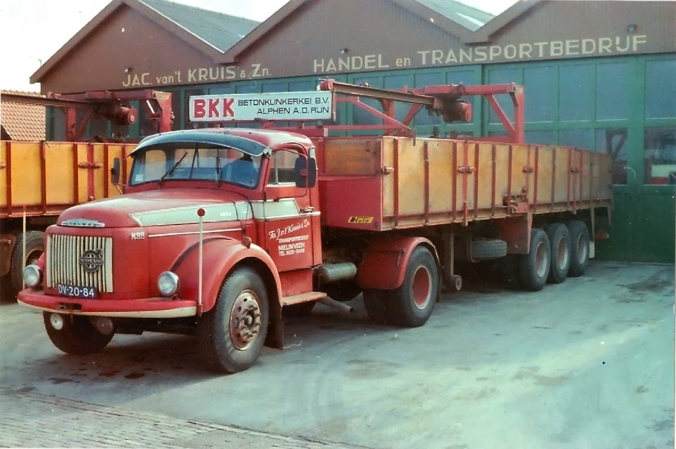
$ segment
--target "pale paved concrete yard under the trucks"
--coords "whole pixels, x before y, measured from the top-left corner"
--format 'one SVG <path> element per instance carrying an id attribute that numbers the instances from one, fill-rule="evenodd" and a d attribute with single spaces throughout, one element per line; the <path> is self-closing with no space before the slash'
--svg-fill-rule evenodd
<path id="1" fill-rule="evenodd" d="M 609 262 L 540 293 L 474 279 L 410 330 L 371 325 L 360 300 L 317 307 L 288 349 L 229 376 L 190 337 L 65 356 L 6 304 L 0 445 L 673 448 L 674 279 Z"/>

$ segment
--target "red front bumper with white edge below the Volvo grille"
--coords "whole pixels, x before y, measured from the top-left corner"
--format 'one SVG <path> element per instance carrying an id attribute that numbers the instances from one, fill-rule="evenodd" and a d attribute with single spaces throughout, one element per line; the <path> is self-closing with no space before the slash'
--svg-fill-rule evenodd
<path id="1" fill-rule="evenodd" d="M 141 300 L 85 300 L 46 295 L 43 291 L 22 290 L 18 303 L 41 311 L 58 314 L 110 316 L 115 318 L 180 318 L 195 316 L 197 302 L 148 297 Z"/>

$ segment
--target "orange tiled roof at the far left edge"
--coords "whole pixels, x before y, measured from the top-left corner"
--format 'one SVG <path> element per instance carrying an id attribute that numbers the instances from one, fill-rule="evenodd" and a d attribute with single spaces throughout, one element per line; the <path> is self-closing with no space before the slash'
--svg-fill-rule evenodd
<path id="1" fill-rule="evenodd" d="M 11 140 L 45 140 L 45 107 L 2 100 L 5 93 L 40 97 L 37 92 L 0 91 L 0 123 Z"/>

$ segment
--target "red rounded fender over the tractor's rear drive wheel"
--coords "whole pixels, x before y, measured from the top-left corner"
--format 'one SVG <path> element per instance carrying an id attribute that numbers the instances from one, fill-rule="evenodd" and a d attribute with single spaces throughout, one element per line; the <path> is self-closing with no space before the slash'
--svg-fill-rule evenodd
<path id="1" fill-rule="evenodd" d="M 361 260 L 357 283 L 361 288 L 394 290 L 404 281 L 406 266 L 417 246 L 429 248 L 437 266 L 439 257 L 434 244 L 424 237 L 394 236 L 370 243 Z"/>

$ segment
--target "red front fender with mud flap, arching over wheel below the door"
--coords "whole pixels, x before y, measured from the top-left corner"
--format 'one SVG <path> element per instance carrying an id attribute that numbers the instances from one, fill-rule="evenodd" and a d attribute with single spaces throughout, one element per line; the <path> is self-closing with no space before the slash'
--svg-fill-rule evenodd
<path id="1" fill-rule="evenodd" d="M 199 254 L 199 246 L 191 246 L 176 260 L 171 269 L 181 281 L 178 293 L 182 297 L 197 300 Z M 254 267 L 266 283 L 270 307 L 266 345 L 281 348 L 283 328 L 280 277 L 272 258 L 260 246 L 252 244 L 247 248 L 241 241 L 225 237 L 204 239 L 202 243 L 202 311 L 209 311 L 214 307 L 226 276 L 241 264 Z"/>

